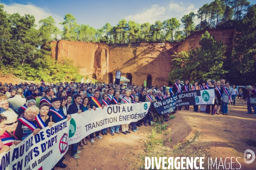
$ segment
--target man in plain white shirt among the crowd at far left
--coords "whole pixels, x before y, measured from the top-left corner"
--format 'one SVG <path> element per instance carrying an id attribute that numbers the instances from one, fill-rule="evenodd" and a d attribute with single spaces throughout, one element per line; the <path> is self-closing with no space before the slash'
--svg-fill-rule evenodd
<path id="1" fill-rule="evenodd" d="M 16 91 L 16 95 L 13 98 L 8 99 L 9 108 L 12 108 L 15 111 L 19 111 L 19 108 L 26 103 L 26 99 L 22 98 L 23 89 L 18 88 Z"/>

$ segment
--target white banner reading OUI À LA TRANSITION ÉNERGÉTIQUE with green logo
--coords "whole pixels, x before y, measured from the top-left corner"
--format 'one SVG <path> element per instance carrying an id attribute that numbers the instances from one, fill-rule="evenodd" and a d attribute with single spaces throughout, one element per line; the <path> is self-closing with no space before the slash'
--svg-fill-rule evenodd
<path id="1" fill-rule="evenodd" d="M 77 143 L 91 133 L 107 127 L 137 122 L 145 117 L 149 107 L 150 102 L 129 103 L 72 114 L 68 144 Z"/>

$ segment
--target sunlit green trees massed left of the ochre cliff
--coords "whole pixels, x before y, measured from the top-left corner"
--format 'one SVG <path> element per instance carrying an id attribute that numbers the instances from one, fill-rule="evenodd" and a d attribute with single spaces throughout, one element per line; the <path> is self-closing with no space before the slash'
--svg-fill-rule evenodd
<path id="1" fill-rule="evenodd" d="M 50 57 L 49 42 L 60 32 L 54 19 L 47 17 L 39 21 L 39 29 L 35 26 L 34 16 L 7 14 L 0 5 L 1 75 L 13 74 L 22 79 L 47 82 L 80 80 L 79 66 L 73 61 L 55 61 Z"/>

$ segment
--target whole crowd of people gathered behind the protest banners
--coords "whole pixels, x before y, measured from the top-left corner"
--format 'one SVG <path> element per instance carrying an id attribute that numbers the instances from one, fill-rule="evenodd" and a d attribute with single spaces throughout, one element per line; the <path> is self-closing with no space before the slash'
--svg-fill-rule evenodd
<path id="1" fill-rule="evenodd" d="M 212 115 L 228 114 L 228 105 L 236 105 L 237 97 L 244 97 L 247 100 L 247 114 L 256 116 L 256 84 L 245 87 L 246 91 L 236 88 L 236 85 L 230 85 L 229 82 L 207 80 L 194 81 L 193 84 L 189 80 L 181 82 L 176 80 L 173 86 L 158 88 L 157 86 L 144 85 L 115 85 L 107 83 L 81 83 L 81 82 L 65 82 L 45 83 L 27 83 L 21 82 L 19 85 L 12 83 L 0 82 L 0 153 L 8 151 L 9 146 L 19 144 L 30 134 L 38 133 L 44 127 L 51 127 L 54 123 L 64 119 L 70 120 L 72 114 L 82 113 L 87 110 L 96 110 L 96 108 L 104 108 L 108 105 L 122 105 L 126 103 L 141 103 L 160 101 L 177 93 L 194 91 L 201 89 L 215 89 L 215 102 L 213 105 L 201 105 L 200 112 L 211 113 Z M 177 109 L 181 111 L 181 106 L 176 108 L 172 113 L 176 113 Z M 193 106 L 194 112 L 198 112 L 198 105 Z M 184 106 L 184 110 L 189 110 L 189 105 Z M 166 115 L 168 116 L 168 115 Z M 160 116 L 164 121 L 168 121 L 165 116 Z M 149 111 L 144 119 L 138 122 L 131 122 L 130 129 L 132 132 L 139 130 L 137 127 L 152 125 L 155 121 L 155 115 Z M 87 139 L 91 143 L 94 138 L 102 139 L 102 136 L 131 133 L 129 125 L 116 125 L 108 127 L 95 133 L 91 133 L 81 142 L 71 145 L 71 156 L 74 159 L 79 158 L 78 145 L 83 147 L 87 145 Z M 95 134 L 95 136 L 94 136 Z M 55 167 L 67 167 L 62 163 L 64 157 L 58 161 Z"/>

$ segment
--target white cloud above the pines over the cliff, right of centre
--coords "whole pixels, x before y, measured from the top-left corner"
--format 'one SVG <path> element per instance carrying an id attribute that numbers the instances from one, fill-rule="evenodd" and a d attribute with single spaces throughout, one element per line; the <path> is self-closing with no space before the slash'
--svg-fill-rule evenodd
<path id="1" fill-rule="evenodd" d="M 190 12 L 197 12 L 198 9 L 195 9 L 195 6 L 191 3 L 169 3 L 169 6 L 159 6 L 155 4 L 151 8 L 145 8 L 143 11 L 138 12 L 134 15 L 126 16 L 126 20 L 134 20 L 137 23 L 151 23 L 155 21 L 163 21 L 168 18 L 175 17 L 177 20 L 180 20 L 184 15 L 189 14 Z"/>

